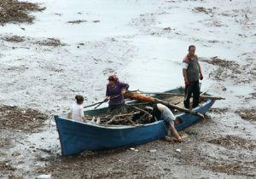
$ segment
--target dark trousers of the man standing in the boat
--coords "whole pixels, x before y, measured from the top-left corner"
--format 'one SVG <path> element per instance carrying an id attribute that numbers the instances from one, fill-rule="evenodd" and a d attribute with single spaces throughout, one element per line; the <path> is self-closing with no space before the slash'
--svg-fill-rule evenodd
<path id="1" fill-rule="evenodd" d="M 193 94 L 193 108 L 198 107 L 199 104 L 199 96 L 200 96 L 200 88 L 199 81 L 190 82 L 189 85 L 185 87 L 185 97 L 184 97 L 184 107 L 189 109 L 189 99 Z"/>

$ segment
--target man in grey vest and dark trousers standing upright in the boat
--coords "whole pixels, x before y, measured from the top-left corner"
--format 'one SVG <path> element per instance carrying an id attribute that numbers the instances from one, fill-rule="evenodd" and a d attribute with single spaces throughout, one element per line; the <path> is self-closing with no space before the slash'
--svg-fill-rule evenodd
<path id="1" fill-rule="evenodd" d="M 183 78 L 185 81 L 184 107 L 189 108 L 189 99 L 193 94 L 193 108 L 198 107 L 200 87 L 199 79 L 203 79 L 201 66 L 197 55 L 195 55 L 195 45 L 189 45 L 189 54 L 183 59 Z"/>

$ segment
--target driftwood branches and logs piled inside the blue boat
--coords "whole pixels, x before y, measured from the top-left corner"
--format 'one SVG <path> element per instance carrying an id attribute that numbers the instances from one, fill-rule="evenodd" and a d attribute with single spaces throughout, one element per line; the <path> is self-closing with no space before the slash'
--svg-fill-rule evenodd
<path id="1" fill-rule="evenodd" d="M 204 95 L 207 91 L 201 93 Z M 152 118 L 152 114 L 148 113 L 145 109 L 146 106 L 152 106 L 153 103 L 161 103 L 166 105 L 166 107 L 170 107 L 173 113 L 191 113 L 193 115 L 199 116 L 200 118 L 204 119 L 204 116 L 201 113 L 196 111 L 191 111 L 189 109 L 183 108 L 181 103 L 183 102 L 183 96 L 179 94 L 173 93 L 161 93 L 160 95 L 169 95 L 169 97 L 165 98 L 165 100 L 160 100 L 158 98 L 154 98 L 152 96 L 143 95 L 140 93 L 134 92 L 127 92 L 125 94 L 126 99 L 142 101 L 135 104 L 125 104 L 125 106 L 129 109 L 129 113 L 119 113 L 116 115 L 106 114 L 102 116 L 96 117 L 89 117 L 88 119 L 91 120 L 93 123 L 100 124 L 100 125 L 139 125 L 139 124 L 149 124 L 154 122 L 155 119 Z M 207 96 L 208 97 L 208 96 Z M 203 98 L 201 98 L 203 102 Z M 101 102 L 97 102 L 95 104 L 90 105 L 96 106 L 101 104 Z M 105 101 L 104 101 L 105 102 Z M 90 119 L 91 118 L 91 119 Z"/>

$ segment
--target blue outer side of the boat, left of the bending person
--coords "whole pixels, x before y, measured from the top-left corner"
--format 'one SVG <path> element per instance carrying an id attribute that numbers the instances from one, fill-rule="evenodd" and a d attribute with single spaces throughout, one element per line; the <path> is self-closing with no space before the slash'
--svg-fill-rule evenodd
<path id="1" fill-rule="evenodd" d="M 165 136 L 167 129 L 162 120 L 154 124 L 122 128 L 83 124 L 58 116 L 55 116 L 55 121 L 61 141 L 61 154 L 64 156 L 84 150 L 105 150 L 154 141 Z"/>

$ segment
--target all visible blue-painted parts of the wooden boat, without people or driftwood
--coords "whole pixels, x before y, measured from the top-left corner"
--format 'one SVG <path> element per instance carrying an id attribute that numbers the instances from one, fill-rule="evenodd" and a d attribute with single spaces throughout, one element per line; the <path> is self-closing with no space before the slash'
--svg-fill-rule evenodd
<path id="1" fill-rule="evenodd" d="M 183 88 L 166 92 L 183 94 Z M 163 99 L 163 96 L 154 95 L 154 97 L 159 99 Z M 205 114 L 212 107 L 214 101 L 214 99 L 207 100 L 200 107 L 195 107 L 193 111 Z M 107 113 L 107 110 L 108 108 L 105 107 L 84 111 L 84 113 L 95 116 Z M 201 120 L 198 116 L 189 113 L 179 113 L 176 116 L 182 120 L 181 124 L 176 125 L 177 130 L 183 130 Z M 166 129 L 169 127 L 163 120 L 138 126 L 108 126 L 82 123 L 73 119 L 67 119 L 67 113 L 55 115 L 55 122 L 60 136 L 62 156 L 81 153 L 85 150 L 105 150 L 116 147 L 136 146 L 166 136 Z"/>

